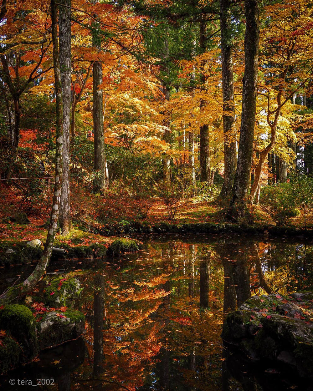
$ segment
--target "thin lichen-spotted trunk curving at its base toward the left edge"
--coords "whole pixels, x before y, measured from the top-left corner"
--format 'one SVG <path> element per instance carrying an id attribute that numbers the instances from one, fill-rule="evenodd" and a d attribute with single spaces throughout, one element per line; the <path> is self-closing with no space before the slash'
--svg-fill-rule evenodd
<path id="1" fill-rule="evenodd" d="M 54 83 L 56 90 L 56 169 L 54 181 L 54 194 L 52 200 L 52 208 L 50 214 L 50 222 L 47 233 L 45 247 L 41 254 L 40 260 L 36 265 L 32 274 L 22 283 L 9 288 L 0 296 L 0 302 L 12 301 L 26 294 L 30 291 L 36 283 L 41 280 L 45 274 L 46 268 L 49 264 L 54 238 L 58 229 L 59 207 L 61 199 L 61 183 L 62 183 L 62 149 L 63 149 L 63 135 L 62 135 L 62 89 L 61 89 L 61 75 L 59 65 L 59 50 L 58 50 L 58 29 L 56 18 L 56 1 L 51 0 L 51 21 L 52 21 L 52 47 L 53 47 L 53 63 L 54 63 Z"/>

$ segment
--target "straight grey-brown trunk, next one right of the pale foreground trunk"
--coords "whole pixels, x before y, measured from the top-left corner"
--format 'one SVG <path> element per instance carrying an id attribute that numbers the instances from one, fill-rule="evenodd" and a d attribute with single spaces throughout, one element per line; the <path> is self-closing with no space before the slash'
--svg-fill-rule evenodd
<path id="1" fill-rule="evenodd" d="M 94 14 L 97 17 L 97 14 Z M 99 28 L 97 22 L 94 23 L 95 30 Z M 92 45 L 101 51 L 101 37 L 94 31 Z M 93 64 L 93 119 L 94 119 L 94 169 L 99 171 L 99 179 L 95 182 L 95 190 L 101 191 L 108 188 L 109 178 L 105 170 L 105 149 L 104 149 L 104 126 L 103 126 L 103 93 L 99 86 L 103 82 L 102 62 L 95 61 Z"/>

